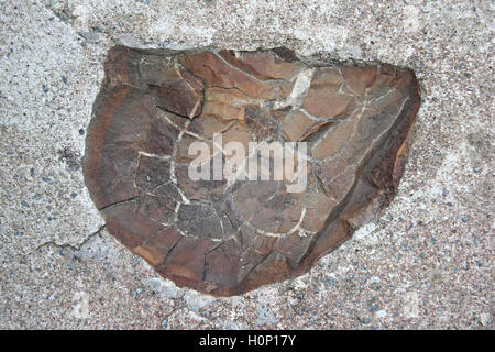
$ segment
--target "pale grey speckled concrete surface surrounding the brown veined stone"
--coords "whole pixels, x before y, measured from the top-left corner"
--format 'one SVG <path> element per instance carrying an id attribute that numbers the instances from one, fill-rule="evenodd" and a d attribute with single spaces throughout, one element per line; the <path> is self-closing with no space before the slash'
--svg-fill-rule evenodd
<path id="1" fill-rule="evenodd" d="M 491 1 L 0 8 L 0 327 L 493 329 Z M 287 46 L 414 69 L 422 102 L 396 197 L 296 279 L 231 298 L 177 288 L 97 232 L 103 220 L 74 167 L 118 43 Z"/>

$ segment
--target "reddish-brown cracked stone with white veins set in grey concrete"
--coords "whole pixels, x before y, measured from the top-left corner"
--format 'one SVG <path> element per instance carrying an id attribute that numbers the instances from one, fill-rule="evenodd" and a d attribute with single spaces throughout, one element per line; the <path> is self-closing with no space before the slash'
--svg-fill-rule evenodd
<path id="1" fill-rule="evenodd" d="M 409 70 L 322 65 L 286 48 L 116 46 L 105 68 L 84 160 L 91 198 L 160 274 L 218 296 L 304 274 L 383 209 L 420 103 Z M 191 153 L 197 142 L 209 153 Z M 230 142 L 246 154 L 227 172 Z M 271 177 L 275 154 L 258 164 L 251 153 L 277 142 L 306 165 L 297 191 L 294 177 Z M 251 177 L 253 155 L 267 177 Z M 213 176 L 191 177 L 195 165 Z"/>

